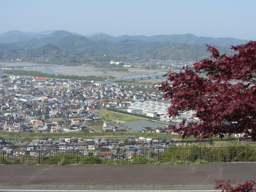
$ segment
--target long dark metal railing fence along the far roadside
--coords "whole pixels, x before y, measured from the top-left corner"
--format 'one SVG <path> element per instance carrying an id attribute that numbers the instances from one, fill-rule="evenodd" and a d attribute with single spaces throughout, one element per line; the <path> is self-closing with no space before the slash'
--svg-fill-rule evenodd
<path id="1" fill-rule="evenodd" d="M 0 151 L 1 164 L 254 162 L 256 147 L 130 148 Z"/>

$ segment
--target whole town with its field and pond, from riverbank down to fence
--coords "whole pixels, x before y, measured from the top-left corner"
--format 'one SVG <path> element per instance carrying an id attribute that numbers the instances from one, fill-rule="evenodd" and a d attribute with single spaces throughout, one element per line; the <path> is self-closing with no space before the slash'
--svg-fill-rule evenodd
<path id="1" fill-rule="evenodd" d="M 43 163 L 63 152 L 87 158 L 80 162 L 169 161 L 164 157 L 170 146 L 195 145 L 172 132 L 182 119 L 191 119 L 192 112 L 170 118 L 170 102 L 162 100 L 156 86 L 4 76 L 0 130 L 27 136 L 0 137 L 0 150 L 9 163 L 24 161 L 27 155 Z M 212 144 L 207 143 L 196 146 Z"/>

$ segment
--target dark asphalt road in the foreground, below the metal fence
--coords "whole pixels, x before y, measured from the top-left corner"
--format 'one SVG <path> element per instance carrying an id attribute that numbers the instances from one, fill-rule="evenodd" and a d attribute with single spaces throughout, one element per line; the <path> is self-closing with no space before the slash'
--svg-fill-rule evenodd
<path id="1" fill-rule="evenodd" d="M 256 179 L 256 163 L 182 165 L 0 165 L 0 190 L 213 190 Z"/>

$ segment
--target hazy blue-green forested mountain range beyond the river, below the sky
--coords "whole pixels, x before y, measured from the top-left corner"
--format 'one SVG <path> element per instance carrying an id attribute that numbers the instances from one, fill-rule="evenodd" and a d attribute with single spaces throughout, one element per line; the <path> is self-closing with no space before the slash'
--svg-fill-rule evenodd
<path id="1" fill-rule="evenodd" d="M 96 34 L 86 38 L 59 30 L 50 34 L 6 32 L 0 34 L 0 42 L 1 61 L 19 58 L 26 62 L 74 64 L 110 60 L 200 60 L 209 56 L 206 44 L 214 44 L 222 52 L 233 54 L 227 45 L 244 44 L 246 40 L 192 34 L 151 37 Z"/>

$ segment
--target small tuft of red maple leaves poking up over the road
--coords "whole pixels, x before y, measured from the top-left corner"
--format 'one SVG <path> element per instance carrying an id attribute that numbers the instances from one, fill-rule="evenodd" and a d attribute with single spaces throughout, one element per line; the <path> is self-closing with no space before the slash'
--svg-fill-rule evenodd
<path id="1" fill-rule="evenodd" d="M 256 183 L 251 180 L 251 182 L 244 182 L 244 184 L 238 184 L 235 187 L 232 187 L 230 180 L 224 183 L 224 180 L 215 180 L 216 186 L 214 189 L 221 189 L 222 192 L 256 192 Z"/>

